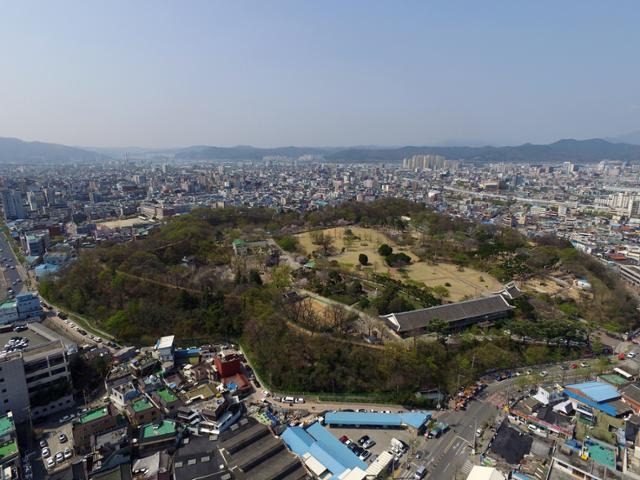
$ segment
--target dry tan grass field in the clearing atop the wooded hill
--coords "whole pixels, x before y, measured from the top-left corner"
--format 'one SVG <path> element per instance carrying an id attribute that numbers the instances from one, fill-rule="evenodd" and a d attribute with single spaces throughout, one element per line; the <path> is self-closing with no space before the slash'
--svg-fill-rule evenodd
<path id="1" fill-rule="evenodd" d="M 338 261 L 345 268 L 354 268 L 358 264 L 358 256 L 364 253 L 369 257 L 370 268 L 377 273 L 389 273 L 394 278 L 409 278 L 416 282 L 424 283 L 429 287 L 436 285 L 445 285 L 449 283 L 448 300 L 459 301 L 466 297 L 478 297 L 487 292 L 495 292 L 500 290 L 501 284 L 488 273 L 483 273 L 472 268 L 465 268 L 458 271 L 458 267 L 451 263 L 439 263 L 430 265 L 420 262 L 418 258 L 411 253 L 407 247 L 398 247 L 398 245 L 390 240 L 385 234 L 371 229 L 362 227 L 351 227 L 355 239 L 351 242 L 347 240 L 345 243 L 344 227 L 328 228 L 322 230 L 325 235 L 331 235 L 333 238 L 333 248 L 337 252 L 336 255 L 330 257 L 331 260 Z M 314 245 L 312 242 L 311 232 L 305 232 L 297 235 L 300 246 L 306 254 L 313 251 L 322 250 L 322 247 Z M 409 255 L 413 262 L 412 265 L 405 268 L 406 277 L 401 276 L 397 269 L 389 268 L 383 258 L 378 254 L 378 247 L 386 243 L 393 248 L 395 252 L 404 252 Z M 340 253 L 342 249 L 344 252 Z M 482 279 L 482 280 L 481 280 Z"/>

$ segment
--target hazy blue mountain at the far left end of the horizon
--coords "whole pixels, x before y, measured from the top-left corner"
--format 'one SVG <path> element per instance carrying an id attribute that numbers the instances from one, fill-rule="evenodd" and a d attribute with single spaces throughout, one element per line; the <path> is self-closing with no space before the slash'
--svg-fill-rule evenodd
<path id="1" fill-rule="evenodd" d="M 0 163 L 58 163 L 104 160 L 103 154 L 57 143 L 0 137 Z"/>

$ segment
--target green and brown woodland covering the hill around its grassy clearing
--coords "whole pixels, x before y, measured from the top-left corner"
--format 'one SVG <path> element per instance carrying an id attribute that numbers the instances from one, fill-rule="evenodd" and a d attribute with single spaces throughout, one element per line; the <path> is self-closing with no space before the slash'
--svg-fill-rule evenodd
<path id="1" fill-rule="evenodd" d="M 247 270 L 234 259 L 231 243 L 271 235 L 282 248 L 295 251 L 292 233 L 338 223 L 375 226 L 422 261 L 454 261 L 500 280 L 564 269 L 589 279 L 593 293 L 579 300 L 526 295 L 518 300 L 514 318 L 490 330 L 474 327 L 449 343 L 436 332 L 435 341 L 371 346 L 350 341 L 346 332 L 291 328 L 283 298 L 294 280 L 289 268 Z M 317 278 L 309 280 L 311 286 L 331 294 L 331 285 L 347 284 L 337 262 L 319 264 L 326 274 L 313 273 Z M 442 301 L 436 302 L 424 285 L 384 275 L 374 280 L 385 285 L 383 291 L 360 306 L 373 315 L 386 313 L 394 301 L 394 308 Z M 355 283 L 348 285 L 345 294 L 362 295 Z M 458 378 L 470 380 L 491 368 L 576 356 L 590 348 L 588 334 L 596 326 L 621 331 L 636 323 L 635 302 L 617 277 L 569 244 L 548 238 L 531 242 L 512 229 L 453 220 L 401 200 L 348 202 L 305 214 L 199 209 L 172 218 L 145 240 L 83 252 L 58 278 L 43 281 L 40 290 L 131 344 L 149 345 L 164 334 L 186 344 L 239 341 L 262 378 L 279 390 L 368 393 L 398 401 L 422 388 L 455 389 Z M 396 301 L 400 293 L 407 301 Z"/>

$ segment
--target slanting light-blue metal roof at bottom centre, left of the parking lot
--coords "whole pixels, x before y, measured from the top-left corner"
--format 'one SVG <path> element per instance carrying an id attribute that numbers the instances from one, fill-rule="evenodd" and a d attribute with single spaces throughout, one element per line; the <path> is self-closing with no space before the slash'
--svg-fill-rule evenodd
<path id="1" fill-rule="evenodd" d="M 337 479 L 347 469 L 367 469 L 366 463 L 317 422 L 306 430 L 302 427 L 287 428 L 282 433 L 282 440 L 296 455 L 312 455 L 333 474 L 332 478 Z"/>

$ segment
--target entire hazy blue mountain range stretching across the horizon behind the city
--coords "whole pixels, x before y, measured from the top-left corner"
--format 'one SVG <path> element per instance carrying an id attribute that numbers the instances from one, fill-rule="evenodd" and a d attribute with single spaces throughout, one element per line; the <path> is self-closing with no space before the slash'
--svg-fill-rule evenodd
<path id="1" fill-rule="evenodd" d="M 631 139 L 634 134 L 627 137 Z M 637 134 L 640 143 L 640 133 Z M 69 147 L 54 143 L 24 142 L 16 138 L 0 137 L 0 163 L 56 163 L 69 161 L 101 161 L 122 158 L 167 157 L 180 160 L 260 160 L 265 156 L 299 157 L 305 154 L 322 155 L 327 162 L 365 163 L 399 162 L 417 154 L 437 154 L 450 159 L 475 162 L 559 163 L 573 161 L 591 163 L 603 159 L 640 161 L 640 144 L 619 143 L 598 138 L 589 140 L 559 140 L 548 145 L 525 143 L 506 147 L 464 146 L 406 146 L 406 147 L 279 147 L 257 148 L 213 147 L 207 145 L 187 148 L 91 148 Z"/>

